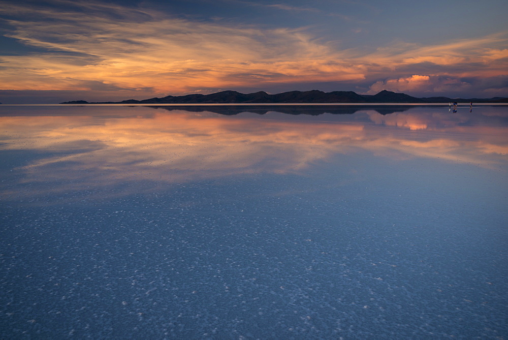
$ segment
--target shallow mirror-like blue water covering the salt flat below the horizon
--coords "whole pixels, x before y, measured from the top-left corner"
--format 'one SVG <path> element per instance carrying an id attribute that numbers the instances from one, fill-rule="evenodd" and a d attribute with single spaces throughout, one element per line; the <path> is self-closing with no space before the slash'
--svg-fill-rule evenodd
<path id="1" fill-rule="evenodd" d="M 0 337 L 504 338 L 508 107 L 0 107 Z"/>

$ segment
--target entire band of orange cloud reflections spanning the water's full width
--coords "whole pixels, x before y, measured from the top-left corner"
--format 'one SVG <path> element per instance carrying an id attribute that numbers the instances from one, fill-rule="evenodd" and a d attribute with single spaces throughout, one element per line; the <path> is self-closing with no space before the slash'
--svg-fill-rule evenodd
<path id="1" fill-rule="evenodd" d="M 131 118 L 3 117 L 0 128 L 9 131 L 4 149 L 51 152 L 23 168 L 25 182 L 65 180 L 66 190 L 302 172 L 333 154 L 361 149 L 484 167 L 495 167 L 496 154 L 508 153 L 502 128 L 460 126 L 445 114 L 367 114 L 375 125 L 156 111 Z"/>

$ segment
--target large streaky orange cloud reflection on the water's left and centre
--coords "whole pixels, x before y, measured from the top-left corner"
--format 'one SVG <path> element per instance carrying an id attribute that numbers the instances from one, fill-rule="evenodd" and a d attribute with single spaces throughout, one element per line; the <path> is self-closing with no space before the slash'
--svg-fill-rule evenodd
<path id="1" fill-rule="evenodd" d="M 25 124 L 26 121 L 26 124 Z M 91 124 L 90 124 L 91 122 Z M 37 128 L 39 125 L 40 129 Z M 52 125 L 52 129 L 48 126 Z M 4 148 L 58 152 L 25 167 L 27 180 L 78 179 L 92 183 L 149 179 L 182 182 L 226 175 L 298 171 L 358 138 L 362 126 L 273 122 L 178 113 L 153 118 L 6 117 Z"/>

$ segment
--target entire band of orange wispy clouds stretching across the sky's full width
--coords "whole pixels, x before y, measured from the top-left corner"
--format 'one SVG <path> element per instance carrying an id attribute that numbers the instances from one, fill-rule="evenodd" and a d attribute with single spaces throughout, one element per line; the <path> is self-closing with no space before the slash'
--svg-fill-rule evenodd
<path id="1" fill-rule="evenodd" d="M 47 50 L 0 56 L 4 89 L 94 90 L 108 85 L 182 94 L 201 88 L 370 82 L 370 93 L 431 91 L 447 84 L 471 88 L 474 84 L 463 78 L 508 75 L 506 32 L 431 46 L 399 42 L 367 53 L 341 50 L 304 28 L 198 22 L 93 2 L 58 4 L 67 4 L 68 10 L 14 4 L 0 9 L 14 27 L 8 37 Z"/>

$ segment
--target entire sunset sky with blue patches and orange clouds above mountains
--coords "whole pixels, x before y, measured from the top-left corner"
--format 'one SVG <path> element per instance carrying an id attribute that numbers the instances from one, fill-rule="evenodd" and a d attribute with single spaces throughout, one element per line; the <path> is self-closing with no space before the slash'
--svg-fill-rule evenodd
<path id="1" fill-rule="evenodd" d="M 0 0 L 0 102 L 508 97 L 505 0 Z"/>

